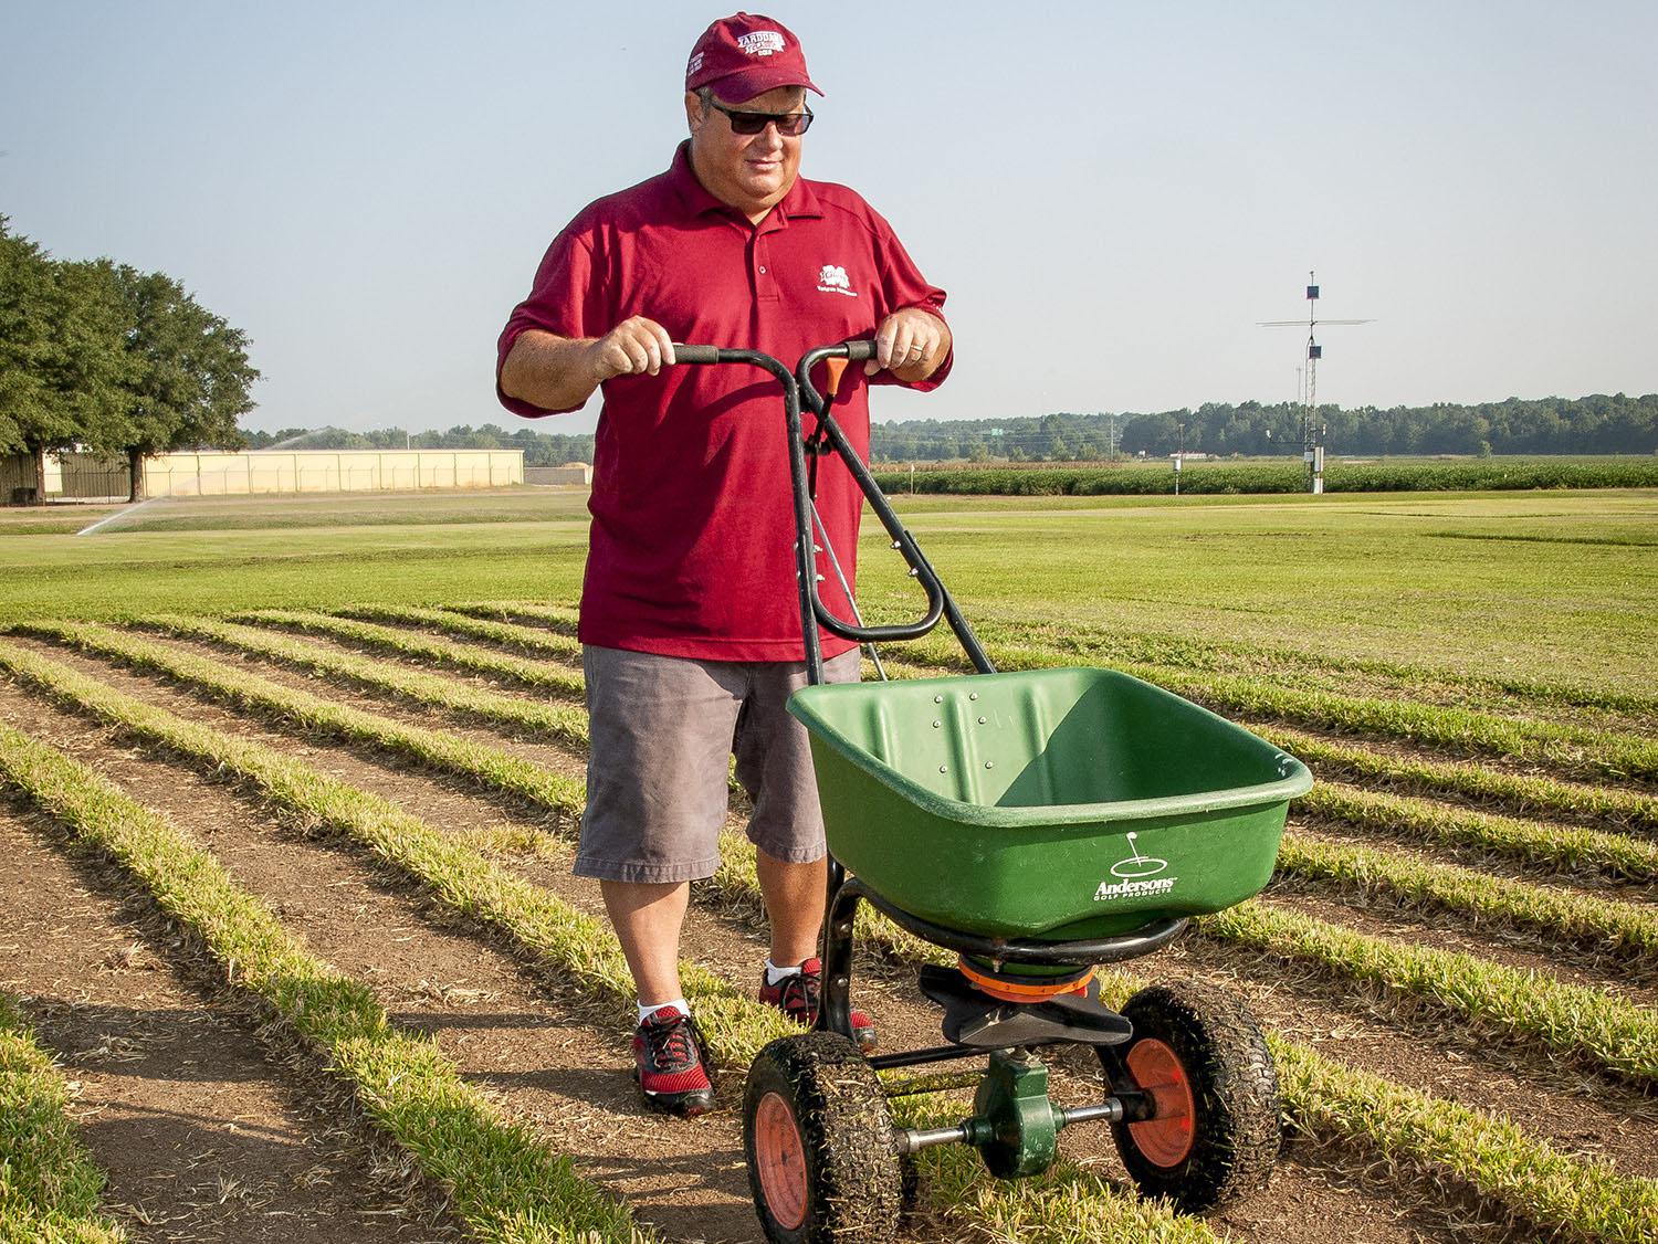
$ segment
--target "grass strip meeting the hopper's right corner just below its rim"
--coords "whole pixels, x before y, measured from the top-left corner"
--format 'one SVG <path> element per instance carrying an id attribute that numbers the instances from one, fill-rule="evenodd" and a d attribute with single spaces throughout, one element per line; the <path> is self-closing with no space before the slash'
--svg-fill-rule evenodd
<path id="1" fill-rule="evenodd" d="M 1623 833 L 1499 817 L 1340 782 L 1316 784 L 1297 800 L 1295 810 L 1381 833 L 1492 851 L 1560 871 L 1590 870 L 1623 881 L 1658 878 L 1658 843 Z"/>

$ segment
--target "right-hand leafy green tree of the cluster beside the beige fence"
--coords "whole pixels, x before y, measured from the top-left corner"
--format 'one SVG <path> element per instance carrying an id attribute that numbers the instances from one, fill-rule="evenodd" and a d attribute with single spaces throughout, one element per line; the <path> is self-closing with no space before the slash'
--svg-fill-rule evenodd
<path id="1" fill-rule="evenodd" d="M 247 361 L 247 335 L 166 273 L 123 263 L 113 275 L 129 363 L 126 411 L 113 439 L 88 442 L 126 454 L 136 500 L 146 456 L 247 444 L 235 421 L 254 409 L 249 388 L 259 371 Z"/>

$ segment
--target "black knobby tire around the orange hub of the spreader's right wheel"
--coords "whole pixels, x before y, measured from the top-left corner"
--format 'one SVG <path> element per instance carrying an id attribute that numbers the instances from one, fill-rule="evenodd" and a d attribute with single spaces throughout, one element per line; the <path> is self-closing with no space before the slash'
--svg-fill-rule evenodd
<path id="1" fill-rule="evenodd" d="M 1147 1125 L 1113 1123 L 1117 1153 L 1141 1193 L 1204 1213 L 1265 1188 L 1283 1136 L 1278 1073 L 1244 1001 L 1202 984 L 1152 986 L 1134 994 L 1122 1014 L 1134 1024 L 1134 1037 L 1114 1054 L 1127 1060 L 1139 1042 L 1162 1042 L 1166 1049 L 1156 1054 L 1174 1057 L 1194 1105 L 1187 1150 L 1179 1158 Z M 1108 1082 L 1111 1058 L 1101 1052 Z"/>

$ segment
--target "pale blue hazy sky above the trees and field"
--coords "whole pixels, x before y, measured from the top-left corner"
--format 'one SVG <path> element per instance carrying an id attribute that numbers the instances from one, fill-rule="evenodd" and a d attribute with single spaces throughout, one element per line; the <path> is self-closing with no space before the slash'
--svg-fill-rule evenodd
<path id="1" fill-rule="evenodd" d="M 247 331 L 254 429 L 517 419 L 554 234 L 667 167 L 688 3 L 0 0 L 0 214 Z M 875 419 L 1658 391 L 1658 3 L 768 3 L 807 177 L 948 290 Z M 541 431 L 590 431 L 599 399 Z"/>

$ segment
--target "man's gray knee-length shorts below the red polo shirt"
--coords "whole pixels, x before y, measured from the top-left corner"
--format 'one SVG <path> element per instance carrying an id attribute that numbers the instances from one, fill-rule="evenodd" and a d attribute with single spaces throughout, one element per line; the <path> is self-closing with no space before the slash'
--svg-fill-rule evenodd
<path id="1" fill-rule="evenodd" d="M 582 673 L 592 749 L 577 876 L 713 876 L 733 755 L 754 803 L 749 840 L 788 863 L 824 855 L 811 747 L 784 709 L 806 686 L 802 663 L 695 661 L 585 646 Z M 857 649 L 824 663 L 829 682 L 856 682 L 857 674 Z"/>

